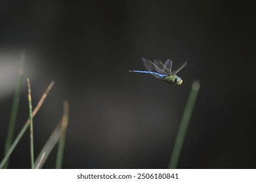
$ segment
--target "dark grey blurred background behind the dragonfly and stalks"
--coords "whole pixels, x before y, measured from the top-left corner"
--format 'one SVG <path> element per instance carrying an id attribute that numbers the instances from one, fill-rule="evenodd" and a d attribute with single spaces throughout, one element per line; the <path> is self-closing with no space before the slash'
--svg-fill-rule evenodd
<path id="1" fill-rule="evenodd" d="M 167 168 L 194 79 L 201 90 L 178 168 L 256 168 L 256 17 L 251 1 L 0 1 L 0 158 L 20 51 L 35 116 L 35 156 L 70 103 L 63 168 Z M 141 57 L 173 60 L 180 86 Z M 16 135 L 29 116 L 24 80 Z M 10 168 L 30 168 L 29 132 Z M 55 167 L 56 149 L 44 168 Z"/>

